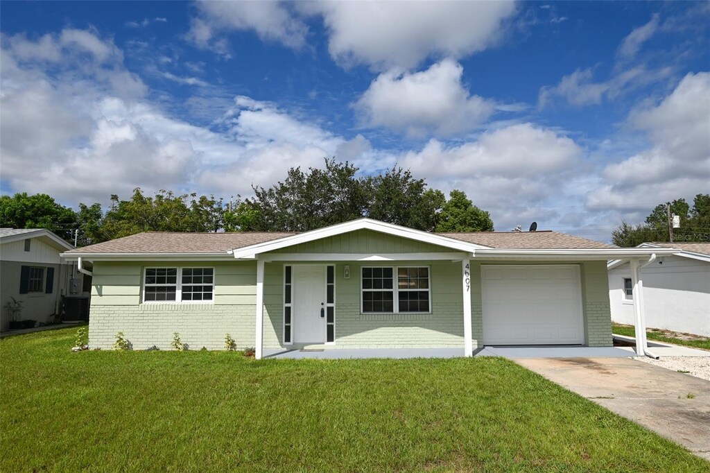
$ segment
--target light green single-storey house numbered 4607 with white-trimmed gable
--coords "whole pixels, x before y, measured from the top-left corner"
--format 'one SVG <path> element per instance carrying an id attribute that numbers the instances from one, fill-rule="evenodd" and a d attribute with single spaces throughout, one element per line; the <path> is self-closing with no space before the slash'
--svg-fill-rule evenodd
<path id="1" fill-rule="evenodd" d="M 668 250 L 670 254 L 672 250 Z M 293 233 L 142 233 L 67 251 L 93 263 L 90 345 L 136 349 L 611 346 L 606 261 L 555 232 L 431 234 L 370 219 Z"/>

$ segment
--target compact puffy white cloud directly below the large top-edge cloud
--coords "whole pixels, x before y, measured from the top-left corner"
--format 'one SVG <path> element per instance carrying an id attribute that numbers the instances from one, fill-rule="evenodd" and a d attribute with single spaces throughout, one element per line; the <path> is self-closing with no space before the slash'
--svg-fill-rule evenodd
<path id="1" fill-rule="evenodd" d="M 354 104 L 366 126 L 409 136 L 447 136 L 481 126 L 496 110 L 461 84 L 463 67 L 451 59 L 415 73 L 384 72 Z"/>

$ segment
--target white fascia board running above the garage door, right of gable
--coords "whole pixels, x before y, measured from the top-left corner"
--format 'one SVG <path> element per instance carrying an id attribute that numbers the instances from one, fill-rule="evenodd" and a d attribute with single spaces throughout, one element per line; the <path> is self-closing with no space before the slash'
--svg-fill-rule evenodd
<path id="1" fill-rule="evenodd" d="M 677 249 L 611 248 L 611 249 L 479 249 L 474 251 L 476 259 L 644 259 L 652 254 L 667 256 L 677 254 Z"/>

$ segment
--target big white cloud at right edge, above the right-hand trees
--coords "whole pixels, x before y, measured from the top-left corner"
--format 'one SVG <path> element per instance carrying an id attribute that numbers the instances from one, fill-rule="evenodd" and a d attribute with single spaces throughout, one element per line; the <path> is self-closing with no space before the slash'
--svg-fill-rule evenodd
<path id="1" fill-rule="evenodd" d="M 688 74 L 655 107 L 637 109 L 628 126 L 651 146 L 603 169 L 604 183 L 589 205 L 648 206 L 710 192 L 710 73 Z M 651 201 L 651 202 L 649 202 Z"/>

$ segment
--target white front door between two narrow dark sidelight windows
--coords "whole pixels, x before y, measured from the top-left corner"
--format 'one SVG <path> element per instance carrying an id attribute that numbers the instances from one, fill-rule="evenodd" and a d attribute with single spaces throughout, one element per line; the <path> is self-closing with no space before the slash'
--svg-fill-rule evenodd
<path id="1" fill-rule="evenodd" d="M 325 342 L 325 266 L 293 266 L 295 343 Z"/>

